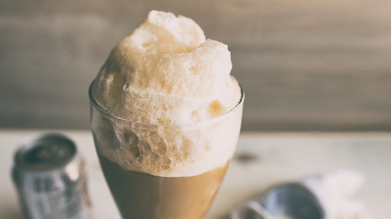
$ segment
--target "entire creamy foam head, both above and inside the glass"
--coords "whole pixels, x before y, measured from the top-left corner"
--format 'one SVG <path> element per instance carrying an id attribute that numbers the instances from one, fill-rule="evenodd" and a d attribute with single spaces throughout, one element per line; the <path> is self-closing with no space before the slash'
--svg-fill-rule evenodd
<path id="1" fill-rule="evenodd" d="M 237 127 L 215 125 L 218 130 L 209 133 L 183 127 L 221 116 L 238 104 L 241 89 L 231 68 L 227 45 L 206 40 L 192 19 L 151 11 L 111 51 L 92 85 L 98 108 L 129 120 L 111 122 L 118 145 L 98 146 L 95 139 L 98 150 L 124 168 L 163 176 L 200 174 L 225 165 L 236 146 Z M 240 116 L 229 116 L 235 119 L 223 119 L 232 120 L 226 125 L 240 128 L 239 111 Z M 167 131 L 153 124 L 187 125 Z M 227 137 L 232 134 L 236 139 Z"/>

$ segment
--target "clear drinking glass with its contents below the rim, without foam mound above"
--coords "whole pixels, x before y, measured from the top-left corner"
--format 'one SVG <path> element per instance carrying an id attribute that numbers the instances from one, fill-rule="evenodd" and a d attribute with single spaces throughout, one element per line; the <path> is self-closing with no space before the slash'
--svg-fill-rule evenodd
<path id="1" fill-rule="evenodd" d="M 229 112 L 183 125 L 133 122 L 103 109 L 91 83 L 96 151 L 123 218 L 205 218 L 234 154 L 244 92 Z M 153 173 L 151 173 L 153 170 Z"/>

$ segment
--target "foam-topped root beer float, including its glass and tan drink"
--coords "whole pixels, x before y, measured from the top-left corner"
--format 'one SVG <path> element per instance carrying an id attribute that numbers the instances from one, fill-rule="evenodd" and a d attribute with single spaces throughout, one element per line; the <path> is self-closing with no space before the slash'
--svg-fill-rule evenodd
<path id="1" fill-rule="evenodd" d="M 91 126 L 123 218 L 204 218 L 236 148 L 243 90 L 228 46 L 152 10 L 91 83 Z"/>

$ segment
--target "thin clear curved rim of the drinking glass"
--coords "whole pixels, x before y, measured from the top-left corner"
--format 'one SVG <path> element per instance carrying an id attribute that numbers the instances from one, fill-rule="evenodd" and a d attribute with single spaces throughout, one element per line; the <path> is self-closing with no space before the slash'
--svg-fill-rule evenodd
<path id="1" fill-rule="evenodd" d="M 101 105 L 99 105 L 98 102 L 96 102 L 95 98 L 94 98 L 94 95 L 92 93 L 92 87 L 94 85 L 94 82 L 95 82 L 96 79 L 94 79 L 91 84 L 90 84 L 90 87 L 88 88 L 88 96 L 89 96 L 89 99 L 90 99 L 90 103 L 101 113 L 103 113 L 104 115 L 110 117 L 110 118 L 113 118 L 113 119 L 116 119 L 116 120 L 120 120 L 120 121 L 123 121 L 123 122 L 127 122 L 127 123 L 136 123 L 136 124 L 140 124 L 140 125 L 146 125 L 146 126 L 167 126 L 167 127 L 177 127 L 177 126 L 192 126 L 192 125 L 204 125 L 204 124 L 209 124 L 209 123 L 214 123 L 214 122 L 218 122 L 220 120 L 224 120 L 226 117 L 229 117 L 231 114 L 233 114 L 238 108 L 240 105 L 243 104 L 243 100 L 244 100 L 244 97 L 245 97 L 245 94 L 244 94 L 244 90 L 243 90 L 243 87 L 242 85 L 240 85 L 240 83 L 238 82 L 239 86 L 240 86 L 240 91 L 241 91 L 241 97 L 239 99 L 239 102 L 234 106 L 232 107 L 232 109 L 230 109 L 228 112 L 222 114 L 222 115 L 219 115 L 217 117 L 214 117 L 214 118 L 211 118 L 209 120 L 206 120 L 206 121 L 200 121 L 200 122 L 195 122 L 195 123 L 185 123 L 185 124 L 152 124 L 152 123 L 144 123 L 144 122 L 138 122 L 138 121 L 132 121 L 132 120 L 129 120 L 129 119 L 126 119 L 126 118 L 122 118 L 120 116 L 117 116 L 117 115 L 114 115 L 110 112 L 108 112 L 106 109 L 104 109 Z"/>

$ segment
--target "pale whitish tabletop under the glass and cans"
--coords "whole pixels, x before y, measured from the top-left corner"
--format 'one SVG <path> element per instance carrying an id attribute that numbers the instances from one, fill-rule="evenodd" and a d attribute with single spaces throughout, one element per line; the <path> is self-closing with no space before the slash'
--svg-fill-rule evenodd
<path id="1" fill-rule="evenodd" d="M 119 219 L 96 156 L 89 130 L 0 129 L 0 218 L 22 218 L 11 179 L 13 154 L 23 143 L 47 132 L 72 138 L 87 160 L 95 219 Z M 243 161 L 244 158 L 247 161 Z M 224 218 L 233 206 L 274 183 L 297 181 L 310 173 L 347 168 L 367 179 L 354 198 L 365 202 L 371 218 L 388 219 L 391 207 L 391 133 L 242 132 L 236 155 L 208 219 Z"/>

